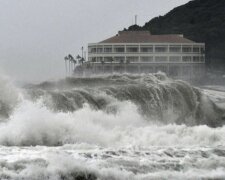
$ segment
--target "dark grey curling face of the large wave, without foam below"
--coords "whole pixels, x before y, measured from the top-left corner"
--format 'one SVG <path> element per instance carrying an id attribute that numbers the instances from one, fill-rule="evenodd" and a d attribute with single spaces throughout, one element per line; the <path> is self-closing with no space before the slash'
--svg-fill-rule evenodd
<path id="1" fill-rule="evenodd" d="M 224 110 L 201 90 L 161 73 L 67 78 L 32 86 L 29 92 L 34 99 L 44 97 L 45 104 L 55 111 L 73 112 L 88 104 L 95 110 L 116 113 L 118 102 L 130 101 L 147 120 L 211 127 L 224 124 Z"/>

